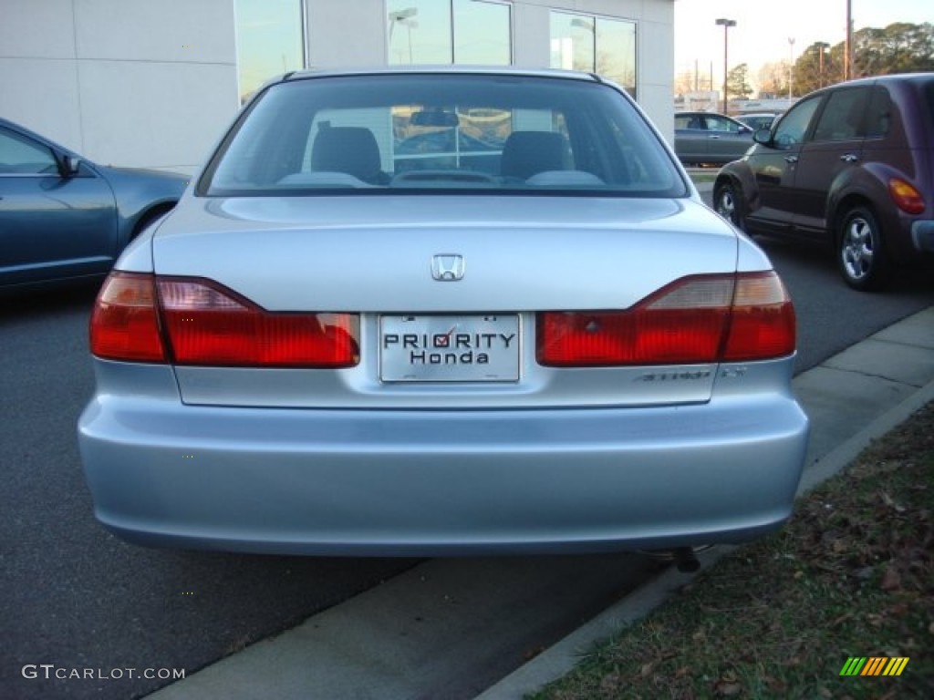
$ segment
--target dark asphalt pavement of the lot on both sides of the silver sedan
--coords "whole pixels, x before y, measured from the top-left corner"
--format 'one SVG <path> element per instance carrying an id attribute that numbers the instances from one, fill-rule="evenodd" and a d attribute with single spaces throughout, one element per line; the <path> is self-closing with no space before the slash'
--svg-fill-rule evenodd
<path id="1" fill-rule="evenodd" d="M 842 286 L 824 251 L 763 245 L 798 307 L 800 371 L 934 304 L 934 284 L 923 273 L 904 275 L 889 294 L 867 296 Z M 106 534 L 93 520 L 75 444 L 75 421 L 92 388 L 85 343 L 94 291 L 89 285 L 7 299 L 0 310 L 6 359 L 0 444 L 7 474 L 0 503 L 6 592 L 0 628 L 7 638 L 0 650 L 0 696 L 149 693 L 167 681 L 26 679 L 21 668 L 184 668 L 191 674 L 415 564 L 164 552 Z M 486 566 L 493 568 L 477 581 L 477 595 L 485 595 L 484 581 L 519 585 L 506 575 L 515 560 Z M 563 623 L 539 621 L 541 630 L 524 639 L 529 649 L 555 641 L 567 624 L 579 623 L 632 585 L 597 559 L 577 568 L 583 573 L 572 577 L 575 585 L 582 592 L 594 586 L 603 597 L 595 594 L 583 608 L 569 609 Z M 613 585 L 605 585 L 607 576 Z M 542 591 L 542 609 L 559 605 L 553 588 L 543 584 Z"/>

